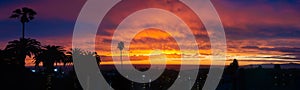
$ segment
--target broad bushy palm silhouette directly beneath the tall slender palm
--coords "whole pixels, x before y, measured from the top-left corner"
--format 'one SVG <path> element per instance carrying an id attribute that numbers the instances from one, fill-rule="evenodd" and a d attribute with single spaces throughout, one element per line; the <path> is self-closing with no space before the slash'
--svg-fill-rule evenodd
<path id="1" fill-rule="evenodd" d="M 26 56 L 31 57 L 40 51 L 41 43 L 35 39 L 20 38 L 20 40 L 13 40 L 8 42 L 5 50 L 14 54 L 20 65 L 25 65 Z"/>

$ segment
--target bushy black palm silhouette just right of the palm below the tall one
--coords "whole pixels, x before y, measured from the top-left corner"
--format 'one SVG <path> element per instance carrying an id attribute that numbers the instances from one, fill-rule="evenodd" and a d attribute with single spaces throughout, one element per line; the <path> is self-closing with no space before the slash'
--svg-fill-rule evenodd
<path id="1" fill-rule="evenodd" d="M 57 65 L 57 63 L 62 62 L 66 58 L 66 55 L 64 54 L 65 51 L 66 50 L 64 50 L 62 46 L 44 46 L 41 52 L 34 58 L 35 65 L 38 66 L 39 63 L 42 62 L 46 71 L 52 72 L 54 69 L 54 63 Z"/>

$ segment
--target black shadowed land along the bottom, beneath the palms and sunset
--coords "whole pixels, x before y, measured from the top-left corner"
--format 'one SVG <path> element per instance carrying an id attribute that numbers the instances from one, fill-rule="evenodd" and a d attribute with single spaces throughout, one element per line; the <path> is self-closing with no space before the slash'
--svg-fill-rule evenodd
<path id="1" fill-rule="evenodd" d="M 1 90 L 82 90 L 74 70 L 63 71 L 63 67 L 47 74 L 33 72 L 30 68 L 1 65 Z M 146 70 L 146 69 L 141 69 Z M 193 70 L 185 70 L 190 72 Z M 101 70 L 102 75 L 116 90 L 167 90 L 179 79 L 189 83 L 189 77 L 178 77 L 177 70 L 166 69 L 163 74 L 151 83 L 135 83 L 121 76 L 115 69 Z M 197 80 L 191 83 L 193 90 L 201 90 L 207 77 L 208 69 L 199 69 Z M 239 68 L 232 71 L 226 68 L 219 83 L 218 90 L 299 90 L 300 69 Z"/>

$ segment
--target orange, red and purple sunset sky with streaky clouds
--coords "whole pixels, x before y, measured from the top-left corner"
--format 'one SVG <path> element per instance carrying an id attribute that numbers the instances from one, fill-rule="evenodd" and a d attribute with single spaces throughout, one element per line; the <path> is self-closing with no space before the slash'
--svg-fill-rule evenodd
<path id="1" fill-rule="evenodd" d="M 4 49 L 8 41 L 21 37 L 21 23 L 8 17 L 13 10 L 25 6 L 37 12 L 36 18 L 26 24 L 26 37 L 37 39 L 43 45 L 60 45 L 70 49 L 74 25 L 84 3 L 85 0 L 1 0 L 0 49 Z M 241 65 L 299 63 L 299 0 L 212 0 L 212 3 L 226 34 L 226 64 L 234 58 Z M 209 64 L 211 52 L 208 32 L 196 14 L 178 0 L 124 0 L 113 7 L 100 24 L 96 38 L 95 48 L 103 57 L 104 63 L 112 63 L 111 40 L 121 21 L 135 11 L 146 8 L 164 9 L 180 17 L 194 34 L 200 54 L 180 52 L 179 44 L 189 44 L 176 43 L 163 30 L 149 28 L 139 32 L 130 42 L 131 61 L 137 64 L 148 63 L 149 54 L 160 49 L 171 64 L 179 63 L 180 55 L 190 57 L 191 60 L 187 61 L 193 64 L 193 60 L 198 59 L 203 60 L 202 64 Z M 172 23 L 155 20 L 165 24 Z M 179 31 L 174 30 L 178 33 L 175 37 L 188 37 L 185 32 L 180 32 L 185 31 L 180 26 L 176 28 Z M 27 64 L 30 63 L 31 59 L 28 59 Z"/>

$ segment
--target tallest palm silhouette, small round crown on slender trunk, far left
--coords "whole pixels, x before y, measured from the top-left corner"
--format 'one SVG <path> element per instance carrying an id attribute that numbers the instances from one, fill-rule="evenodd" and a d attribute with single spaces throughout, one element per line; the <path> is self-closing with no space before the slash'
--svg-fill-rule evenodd
<path id="1" fill-rule="evenodd" d="M 34 19 L 34 16 L 37 13 L 30 8 L 23 7 L 22 9 L 16 9 L 12 12 L 12 15 L 9 18 L 20 19 L 22 23 L 22 38 L 25 38 L 25 23 Z"/>

